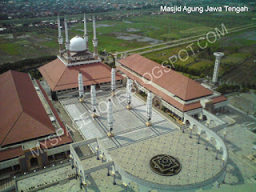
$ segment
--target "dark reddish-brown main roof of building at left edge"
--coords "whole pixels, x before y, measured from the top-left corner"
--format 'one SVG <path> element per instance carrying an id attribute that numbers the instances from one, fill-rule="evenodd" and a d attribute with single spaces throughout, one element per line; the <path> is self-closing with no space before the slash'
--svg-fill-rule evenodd
<path id="1" fill-rule="evenodd" d="M 54 134 L 54 126 L 28 74 L 0 75 L 0 145 L 6 146 Z"/>

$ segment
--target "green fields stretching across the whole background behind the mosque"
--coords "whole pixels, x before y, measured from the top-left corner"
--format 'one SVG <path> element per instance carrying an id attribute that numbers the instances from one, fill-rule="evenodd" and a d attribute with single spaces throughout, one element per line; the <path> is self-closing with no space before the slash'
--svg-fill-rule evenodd
<path id="1" fill-rule="evenodd" d="M 148 12 L 149 10 L 145 10 Z M 145 13 L 146 13 L 145 12 Z M 114 12 L 116 14 L 116 12 Z M 110 15 L 111 13 L 97 14 L 98 21 L 97 38 L 98 50 L 106 50 L 107 52 L 132 50 L 144 46 L 150 46 L 152 43 L 167 42 L 181 38 L 187 38 L 198 34 L 206 34 L 215 27 L 221 29 L 222 23 L 226 28 L 234 28 L 236 26 L 244 26 L 253 23 L 254 14 L 142 14 L 141 11 L 126 11 L 126 13 L 140 14 L 139 16 L 130 16 L 125 19 L 103 20 L 102 15 Z M 81 20 L 82 15 L 70 16 L 70 18 L 78 18 Z M 90 15 L 87 17 L 90 18 Z M 14 23 L 27 23 L 57 18 L 34 18 L 15 20 Z M 4 22 L 4 21 L 3 21 Z M 8 21 L 9 22 L 9 21 Z M 62 25 L 63 26 L 63 25 Z M 69 24 L 70 39 L 75 35 L 83 36 L 83 23 L 78 22 Z M 92 38 L 93 27 L 92 22 L 87 22 L 87 30 L 89 34 L 89 47 L 93 50 Z M 182 62 L 178 60 L 176 65 L 188 67 L 193 70 L 200 70 L 202 74 L 208 75 L 212 73 L 214 66 L 214 51 L 222 51 L 225 58 L 222 60 L 220 74 L 224 74 L 226 70 L 230 70 L 233 66 L 239 65 L 246 57 L 252 57 L 253 54 L 246 53 L 247 46 L 254 46 L 255 34 L 252 30 L 227 34 L 221 41 L 209 45 L 210 52 L 202 50 L 200 53 L 186 59 Z M 11 38 L 13 35 L 14 38 Z M 27 37 L 24 37 L 27 35 Z M 65 34 L 62 33 L 65 37 Z M 165 45 L 164 45 L 165 46 Z M 170 49 L 160 50 L 144 54 L 146 58 L 154 61 L 168 61 L 168 58 L 182 49 L 186 49 L 187 45 L 175 46 Z M 162 47 L 162 46 L 158 46 Z M 195 47 L 196 48 L 196 47 Z M 250 48 L 252 49 L 252 48 Z M 187 49 L 186 49 L 187 50 Z M 139 51 L 138 51 L 139 52 Z M 15 62 L 23 58 L 37 58 L 44 55 L 58 54 L 58 30 L 46 27 L 36 28 L 26 33 L 1 34 L 0 35 L 0 55 L 1 63 Z M 15 57 L 14 57 L 15 56 Z M 184 53 L 181 55 L 185 57 Z M 0 63 L 0 64 L 1 64 Z M 191 76 L 191 75 L 189 75 Z M 195 76 L 193 78 L 196 78 Z"/>

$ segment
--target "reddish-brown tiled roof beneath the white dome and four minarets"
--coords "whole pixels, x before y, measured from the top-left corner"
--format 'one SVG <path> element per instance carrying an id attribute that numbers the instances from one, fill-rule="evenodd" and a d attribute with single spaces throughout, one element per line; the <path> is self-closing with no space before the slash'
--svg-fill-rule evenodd
<path id="1" fill-rule="evenodd" d="M 84 86 L 111 82 L 111 68 L 102 62 L 67 67 L 59 58 L 39 68 L 42 77 L 53 91 L 78 87 L 78 73 L 82 73 Z M 116 73 L 116 80 L 122 76 Z"/>

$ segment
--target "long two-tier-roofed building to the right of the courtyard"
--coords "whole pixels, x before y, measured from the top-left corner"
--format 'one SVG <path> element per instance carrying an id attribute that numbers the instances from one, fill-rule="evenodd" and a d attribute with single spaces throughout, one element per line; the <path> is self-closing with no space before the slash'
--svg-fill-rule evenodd
<path id="1" fill-rule="evenodd" d="M 139 54 L 118 60 L 116 66 L 124 77 L 133 80 L 136 91 L 151 91 L 154 106 L 166 107 L 178 120 L 184 120 L 184 113 L 202 119 L 203 109 L 215 113 L 227 105 L 226 98 L 217 91 Z"/>

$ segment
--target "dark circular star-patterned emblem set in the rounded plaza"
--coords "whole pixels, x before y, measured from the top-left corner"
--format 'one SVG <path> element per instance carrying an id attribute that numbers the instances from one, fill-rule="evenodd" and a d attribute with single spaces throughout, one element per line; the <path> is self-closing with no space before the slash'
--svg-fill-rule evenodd
<path id="1" fill-rule="evenodd" d="M 150 168 L 156 174 L 161 174 L 164 176 L 172 176 L 178 174 L 182 169 L 182 165 L 178 162 L 177 158 L 174 158 L 168 154 L 158 154 L 151 158 Z"/>

